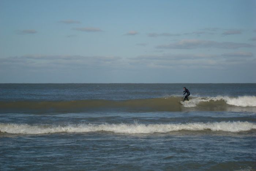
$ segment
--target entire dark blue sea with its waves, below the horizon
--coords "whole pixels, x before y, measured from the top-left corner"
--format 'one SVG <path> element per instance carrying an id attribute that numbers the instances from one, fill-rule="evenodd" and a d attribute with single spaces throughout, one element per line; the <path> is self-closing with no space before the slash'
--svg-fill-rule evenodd
<path id="1" fill-rule="evenodd" d="M 0 170 L 256 170 L 256 84 L 0 84 L 0 154 Z"/>

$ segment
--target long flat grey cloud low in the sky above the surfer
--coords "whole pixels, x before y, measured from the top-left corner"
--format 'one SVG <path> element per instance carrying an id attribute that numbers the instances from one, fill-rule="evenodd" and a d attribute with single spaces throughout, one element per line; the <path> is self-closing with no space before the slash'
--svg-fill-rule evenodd
<path id="1" fill-rule="evenodd" d="M 143 55 L 130 58 L 129 63 L 139 68 L 214 68 L 255 63 L 252 53 L 234 52 L 226 54 L 162 54 Z"/>

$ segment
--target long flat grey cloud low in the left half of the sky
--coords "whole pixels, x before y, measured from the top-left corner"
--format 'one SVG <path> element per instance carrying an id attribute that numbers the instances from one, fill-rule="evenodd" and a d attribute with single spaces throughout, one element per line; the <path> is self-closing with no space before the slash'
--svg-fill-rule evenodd
<path id="1" fill-rule="evenodd" d="M 115 56 L 26 55 L 0 58 L 0 65 L 14 68 L 101 68 L 118 66 L 121 59 Z"/>

